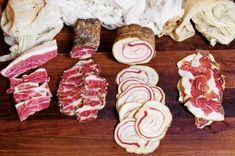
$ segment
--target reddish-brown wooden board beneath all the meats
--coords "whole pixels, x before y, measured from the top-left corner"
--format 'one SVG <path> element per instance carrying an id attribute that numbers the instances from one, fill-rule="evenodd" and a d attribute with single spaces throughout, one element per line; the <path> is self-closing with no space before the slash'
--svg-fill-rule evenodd
<path id="1" fill-rule="evenodd" d="M 8 53 L 8 46 L 0 32 L 0 54 Z M 127 67 L 117 63 L 111 53 L 116 31 L 102 31 L 101 46 L 93 59 L 100 64 L 102 73 L 109 82 L 107 106 L 99 112 L 97 120 L 81 124 L 74 117 L 59 112 L 56 89 L 61 73 L 76 63 L 68 55 L 72 47 L 72 29 L 64 28 L 57 35 L 59 56 L 45 67 L 50 75 L 53 100 L 48 109 L 36 113 L 20 122 L 15 103 L 5 93 L 9 84 L 0 77 L 0 155 L 127 155 L 113 139 L 113 130 L 118 122 L 115 110 L 117 86 L 115 76 Z M 235 41 L 229 46 L 209 46 L 201 36 L 196 35 L 177 43 L 169 37 L 157 38 L 157 56 L 147 64 L 160 75 L 159 86 L 166 93 L 166 104 L 173 114 L 173 122 L 160 147 L 150 155 L 156 156 L 234 156 L 235 155 Z M 226 90 L 223 106 L 226 119 L 199 130 L 194 125 L 194 117 L 180 104 L 176 84 L 179 76 L 176 62 L 195 49 L 210 49 L 221 64 L 226 76 Z M 0 63 L 3 69 L 9 62 Z"/>

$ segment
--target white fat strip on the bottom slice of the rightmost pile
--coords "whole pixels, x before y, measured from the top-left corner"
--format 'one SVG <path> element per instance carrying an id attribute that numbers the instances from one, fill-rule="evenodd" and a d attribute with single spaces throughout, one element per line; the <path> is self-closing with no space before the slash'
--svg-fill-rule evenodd
<path id="1" fill-rule="evenodd" d="M 223 121 L 224 120 L 223 114 L 213 111 L 210 114 L 206 115 L 202 111 L 202 109 L 195 107 L 190 101 L 187 101 L 185 103 L 185 106 L 197 118 L 202 118 L 205 120 L 212 120 L 212 121 Z"/>

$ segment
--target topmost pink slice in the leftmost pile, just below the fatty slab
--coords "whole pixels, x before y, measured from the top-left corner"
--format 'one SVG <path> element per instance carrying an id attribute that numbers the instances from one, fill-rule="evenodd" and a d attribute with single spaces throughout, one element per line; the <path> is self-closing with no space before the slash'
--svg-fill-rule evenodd
<path id="1" fill-rule="evenodd" d="M 10 88 L 7 89 L 7 94 L 13 93 L 15 86 L 25 83 L 25 82 L 34 82 L 42 84 L 44 82 L 49 82 L 49 77 L 46 69 L 39 68 L 30 75 L 23 75 L 22 78 L 10 78 Z"/>

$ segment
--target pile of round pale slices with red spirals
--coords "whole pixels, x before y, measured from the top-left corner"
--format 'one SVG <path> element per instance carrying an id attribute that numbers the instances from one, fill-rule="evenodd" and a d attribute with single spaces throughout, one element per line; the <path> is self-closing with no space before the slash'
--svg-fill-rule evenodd
<path id="1" fill-rule="evenodd" d="M 130 66 L 116 77 L 116 109 L 120 123 L 115 128 L 117 144 L 129 153 L 154 152 L 165 136 L 172 115 L 165 94 L 157 87 L 159 76 L 148 66 Z"/>

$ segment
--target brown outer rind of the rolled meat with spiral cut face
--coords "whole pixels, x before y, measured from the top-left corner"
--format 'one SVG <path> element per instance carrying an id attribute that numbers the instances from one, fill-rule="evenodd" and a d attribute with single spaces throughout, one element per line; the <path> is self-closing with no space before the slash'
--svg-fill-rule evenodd
<path id="1" fill-rule="evenodd" d="M 137 37 L 140 40 L 148 42 L 153 50 L 155 51 L 155 35 L 154 32 L 147 27 L 141 27 L 137 24 L 125 25 L 118 29 L 117 37 L 115 42 L 125 39 L 125 38 L 132 38 Z"/>

